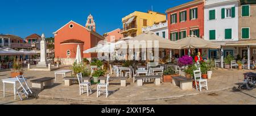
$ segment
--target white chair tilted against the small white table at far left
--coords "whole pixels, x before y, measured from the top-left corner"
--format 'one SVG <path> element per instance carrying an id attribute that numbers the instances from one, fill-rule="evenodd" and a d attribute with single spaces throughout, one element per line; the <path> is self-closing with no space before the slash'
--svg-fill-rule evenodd
<path id="1" fill-rule="evenodd" d="M 17 80 L 19 81 L 20 86 L 18 89 L 16 89 L 16 93 L 18 93 L 18 96 L 20 100 L 22 101 L 22 96 L 24 95 L 25 97 L 28 98 L 29 94 L 32 94 L 31 89 L 27 85 L 27 82 L 23 76 L 16 76 Z"/>

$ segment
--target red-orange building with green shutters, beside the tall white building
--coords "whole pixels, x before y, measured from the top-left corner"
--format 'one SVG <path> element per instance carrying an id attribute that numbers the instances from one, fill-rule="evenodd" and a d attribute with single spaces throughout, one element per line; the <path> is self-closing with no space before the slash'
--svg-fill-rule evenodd
<path id="1" fill-rule="evenodd" d="M 176 41 L 191 35 L 204 38 L 204 0 L 172 7 L 166 13 L 170 40 Z M 202 53 L 202 49 L 195 49 L 194 52 L 198 51 Z M 175 50 L 174 55 L 176 57 L 188 55 L 188 49 Z"/>

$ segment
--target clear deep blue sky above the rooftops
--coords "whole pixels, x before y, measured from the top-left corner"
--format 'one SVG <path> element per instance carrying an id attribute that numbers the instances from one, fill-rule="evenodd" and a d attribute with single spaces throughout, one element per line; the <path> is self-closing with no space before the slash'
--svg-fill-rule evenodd
<path id="1" fill-rule="evenodd" d="M 73 20 L 85 25 L 91 13 L 99 34 L 122 28 L 122 18 L 134 11 L 164 13 L 168 8 L 191 0 L 1 0 L 0 34 L 22 38 L 44 33 L 53 37 L 64 24 Z"/>

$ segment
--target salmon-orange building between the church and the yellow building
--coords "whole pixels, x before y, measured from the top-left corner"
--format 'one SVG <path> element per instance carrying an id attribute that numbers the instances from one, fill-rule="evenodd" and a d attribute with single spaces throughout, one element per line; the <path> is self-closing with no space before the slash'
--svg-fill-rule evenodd
<path id="1" fill-rule="evenodd" d="M 123 38 L 123 34 L 121 34 L 122 31 L 123 30 L 120 28 L 117 28 L 113 31 L 105 33 L 103 36 L 105 37 L 106 41 L 114 43 Z"/>

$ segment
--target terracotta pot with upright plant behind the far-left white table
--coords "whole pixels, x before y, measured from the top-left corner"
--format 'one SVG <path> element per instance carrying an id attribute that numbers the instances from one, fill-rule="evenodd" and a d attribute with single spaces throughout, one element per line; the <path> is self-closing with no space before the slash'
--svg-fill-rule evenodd
<path id="1" fill-rule="evenodd" d="M 13 69 L 11 69 L 11 77 L 15 78 L 16 76 L 22 75 L 23 70 L 22 64 L 18 62 L 18 60 L 14 59 L 13 61 Z"/>

